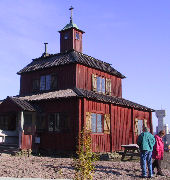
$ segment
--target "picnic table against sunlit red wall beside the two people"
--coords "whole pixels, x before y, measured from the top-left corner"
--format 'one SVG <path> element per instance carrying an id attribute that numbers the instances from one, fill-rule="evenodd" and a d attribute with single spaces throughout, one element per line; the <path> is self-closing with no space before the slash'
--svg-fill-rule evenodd
<path id="1" fill-rule="evenodd" d="M 138 154 L 140 153 L 139 146 L 137 144 L 121 145 L 121 147 L 125 149 L 122 155 L 122 160 L 125 158 L 126 155 L 129 155 L 129 153 L 131 154 L 130 159 L 132 159 L 135 155 L 135 151 L 137 151 Z"/>

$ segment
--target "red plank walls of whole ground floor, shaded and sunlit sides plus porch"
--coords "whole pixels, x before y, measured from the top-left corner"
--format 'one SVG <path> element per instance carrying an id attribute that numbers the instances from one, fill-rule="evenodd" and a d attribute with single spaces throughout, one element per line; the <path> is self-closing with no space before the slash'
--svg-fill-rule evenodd
<path id="1" fill-rule="evenodd" d="M 152 131 L 152 113 L 136 110 L 133 108 L 120 107 L 114 104 L 82 99 L 60 99 L 54 101 L 41 101 L 40 108 L 46 113 L 46 127 L 48 127 L 48 114 L 66 112 L 70 117 L 70 131 L 68 133 L 45 132 L 38 134 L 41 138 L 40 148 L 46 150 L 75 150 L 77 145 L 78 132 L 86 125 L 86 112 L 110 114 L 111 133 L 92 134 L 92 149 L 94 152 L 110 152 L 121 150 L 122 144 L 136 143 L 135 118 L 147 119 L 147 126 Z M 1 104 L 0 112 L 20 111 L 13 103 L 5 100 Z M 9 107 L 9 108 L 7 108 Z M 4 108 L 4 110 L 3 110 Z M 7 112 L 7 111 L 6 111 Z M 34 138 L 31 135 L 22 134 L 22 148 L 32 147 Z"/>

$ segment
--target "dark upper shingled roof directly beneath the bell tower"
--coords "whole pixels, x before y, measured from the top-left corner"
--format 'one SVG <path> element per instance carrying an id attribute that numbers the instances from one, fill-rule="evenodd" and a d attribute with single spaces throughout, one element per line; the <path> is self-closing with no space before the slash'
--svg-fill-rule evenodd
<path id="1" fill-rule="evenodd" d="M 101 71 L 107 72 L 109 74 L 115 75 L 120 78 L 125 78 L 120 72 L 111 67 L 110 64 L 83 54 L 81 52 L 71 50 L 65 53 L 58 53 L 49 55 L 47 57 L 40 57 L 33 59 L 33 61 L 26 67 L 21 69 L 17 74 L 22 74 L 26 72 L 41 70 L 45 68 L 51 68 L 54 66 L 60 66 L 65 64 L 78 63 L 83 64 L 88 67 L 99 69 Z"/>

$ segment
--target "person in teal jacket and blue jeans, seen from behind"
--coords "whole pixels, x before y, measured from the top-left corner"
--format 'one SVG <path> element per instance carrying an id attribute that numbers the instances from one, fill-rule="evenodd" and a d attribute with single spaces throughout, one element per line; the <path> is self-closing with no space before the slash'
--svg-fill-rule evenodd
<path id="1" fill-rule="evenodd" d="M 153 176 L 152 172 L 152 151 L 155 145 L 155 138 L 149 132 L 149 128 L 144 127 L 143 133 L 141 133 L 137 139 L 137 145 L 140 148 L 140 164 L 142 169 L 142 178 L 147 177 L 146 174 L 146 162 L 149 171 L 149 178 Z"/>

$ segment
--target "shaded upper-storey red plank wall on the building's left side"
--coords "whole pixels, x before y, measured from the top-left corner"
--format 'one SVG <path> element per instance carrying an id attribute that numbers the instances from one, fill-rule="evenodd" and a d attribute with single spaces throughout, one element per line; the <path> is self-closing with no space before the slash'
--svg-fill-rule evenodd
<path id="1" fill-rule="evenodd" d="M 70 64 L 22 74 L 20 78 L 20 95 L 32 93 L 33 79 L 40 79 L 42 75 L 53 73 L 57 75 L 58 90 L 75 87 L 76 65 Z"/>

